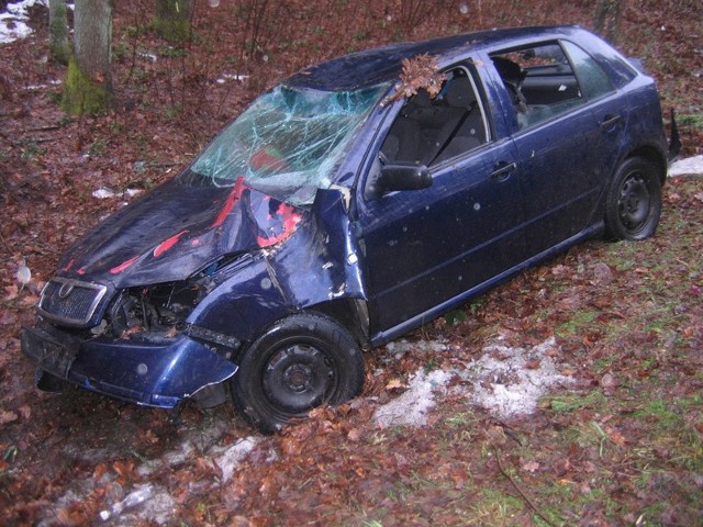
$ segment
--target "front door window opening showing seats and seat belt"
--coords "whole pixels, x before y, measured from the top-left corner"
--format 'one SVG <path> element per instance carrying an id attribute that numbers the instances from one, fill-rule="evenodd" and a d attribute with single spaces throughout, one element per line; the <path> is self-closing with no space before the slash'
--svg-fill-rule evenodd
<path id="1" fill-rule="evenodd" d="M 435 98 L 421 89 L 403 105 L 383 145 L 387 162 L 433 167 L 489 141 L 486 112 L 466 68 L 447 72 Z"/>

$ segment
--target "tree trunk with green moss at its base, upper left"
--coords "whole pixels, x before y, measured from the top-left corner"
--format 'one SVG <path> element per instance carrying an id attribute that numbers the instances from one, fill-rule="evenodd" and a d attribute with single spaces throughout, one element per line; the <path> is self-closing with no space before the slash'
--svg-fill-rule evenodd
<path id="1" fill-rule="evenodd" d="M 68 65 L 63 106 L 71 114 L 102 113 L 112 103 L 111 0 L 76 0 L 74 56 Z"/>

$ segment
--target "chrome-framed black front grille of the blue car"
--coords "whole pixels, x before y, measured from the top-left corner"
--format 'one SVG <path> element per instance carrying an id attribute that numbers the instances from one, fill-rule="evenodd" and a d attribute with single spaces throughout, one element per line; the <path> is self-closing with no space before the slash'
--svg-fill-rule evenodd
<path id="1" fill-rule="evenodd" d="M 54 277 L 42 291 L 40 310 L 54 321 L 85 326 L 107 291 L 108 288 L 99 283 Z"/>

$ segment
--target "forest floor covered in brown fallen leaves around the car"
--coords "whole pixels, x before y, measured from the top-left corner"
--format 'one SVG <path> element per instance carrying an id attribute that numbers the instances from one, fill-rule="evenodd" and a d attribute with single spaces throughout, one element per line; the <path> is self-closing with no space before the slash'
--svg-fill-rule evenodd
<path id="1" fill-rule="evenodd" d="M 105 525 L 703 525 L 701 176 L 668 181 L 651 239 L 576 247 L 368 354 L 360 397 L 278 436 L 226 406 L 171 424 L 36 391 L 20 327 L 62 250 L 256 93 L 375 45 L 595 14 L 585 0 L 197 1 L 177 45 L 149 29 L 153 2 L 114 3 L 108 115 L 60 111 L 44 8 L 0 45 L 0 523 L 93 525 L 137 492 Z M 700 15 L 633 0 L 613 34 L 676 108 L 685 156 L 703 154 Z"/>

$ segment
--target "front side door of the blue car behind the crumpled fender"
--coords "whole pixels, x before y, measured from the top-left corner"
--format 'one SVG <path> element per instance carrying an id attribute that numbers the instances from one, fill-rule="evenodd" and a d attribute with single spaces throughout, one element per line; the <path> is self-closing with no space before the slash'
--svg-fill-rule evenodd
<path id="1" fill-rule="evenodd" d="M 468 68 L 450 77 L 436 100 L 420 92 L 403 106 L 381 147 L 387 164 L 427 165 L 432 184 L 359 205 L 372 334 L 437 314 L 524 258 L 513 144 L 491 137 Z"/>

